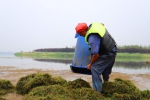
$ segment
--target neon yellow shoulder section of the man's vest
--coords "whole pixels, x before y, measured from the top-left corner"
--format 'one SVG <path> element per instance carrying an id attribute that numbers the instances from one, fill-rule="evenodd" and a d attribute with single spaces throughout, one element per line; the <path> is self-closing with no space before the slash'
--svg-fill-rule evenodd
<path id="1" fill-rule="evenodd" d="M 91 33 L 98 33 L 103 38 L 106 33 L 106 28 L 105 28 L 105 26 L 103 26 L 102 24 L 100 24 L 98 22 L 92 23 L 90 29 L 87 31 L 87 33 L 85 35 L 85 42 L 87 44 L 88 44 L 87 38 Z"/>

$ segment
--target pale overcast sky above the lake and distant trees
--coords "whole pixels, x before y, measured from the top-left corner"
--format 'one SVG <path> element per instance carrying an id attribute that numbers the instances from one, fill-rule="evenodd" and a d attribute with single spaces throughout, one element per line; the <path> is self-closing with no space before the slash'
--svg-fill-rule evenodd
<path id="1" fill-rule="evenodd" d="M 0 0 L 0 52 L 74 47 L 79 22 L 104 23 L 119 46 L 150 45 L 150 0 Z"/>

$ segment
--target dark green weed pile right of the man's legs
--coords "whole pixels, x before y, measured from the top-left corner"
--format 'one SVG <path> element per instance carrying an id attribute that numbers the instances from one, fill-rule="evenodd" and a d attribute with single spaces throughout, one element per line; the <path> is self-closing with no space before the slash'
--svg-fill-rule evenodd
<path id="1" fill-rule="evenodd" d="M 150 92 L 140 91 L 131 81 L 114 79 L 114 82 L 103 83 L 102 94 L 115 100 L 149 99 Z"/>

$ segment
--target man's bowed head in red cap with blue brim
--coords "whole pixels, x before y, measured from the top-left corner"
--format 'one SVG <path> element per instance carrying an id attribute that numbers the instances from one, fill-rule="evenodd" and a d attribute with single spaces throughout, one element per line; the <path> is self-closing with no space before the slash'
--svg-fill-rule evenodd
<path id="1" fill-rule="evenodd" d="M 88 31 L 88 26 L 86 23 L 78 23 L 75 30 L 76 30 L 75 38 L 77 38 L 79 35 L 85 37 Z"/>

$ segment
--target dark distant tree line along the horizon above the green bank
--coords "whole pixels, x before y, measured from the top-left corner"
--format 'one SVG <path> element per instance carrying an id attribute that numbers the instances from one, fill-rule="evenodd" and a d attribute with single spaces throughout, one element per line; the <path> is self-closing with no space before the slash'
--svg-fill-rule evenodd
<path id="1" fill-rule="evenodd" d="M 117 46 L 119 53 L 150 53 L 150 46 L 128 45 Z M 74 52 L 75 48 L 42 48 L 34 52 Z"/>

